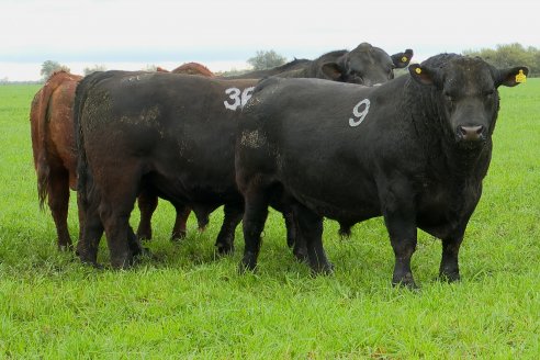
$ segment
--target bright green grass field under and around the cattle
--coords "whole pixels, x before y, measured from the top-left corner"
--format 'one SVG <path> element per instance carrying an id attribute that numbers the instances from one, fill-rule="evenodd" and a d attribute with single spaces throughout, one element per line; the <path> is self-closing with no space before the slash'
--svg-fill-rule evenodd
<path id="1" fill-rule="evenodd" d="M 172 206 L 154 217 L 154 257 L 95 270 L 56 250 L 40 212 L 29 106 L 37 86 L 0 86 L 0 358 L 538 359 L 540 356 L 540 79 L 502 88 L 483 198 L 460 252 L 462 281 L 436 280 L 440 241 L 419 233 L 419 291 L 391 286 L 381 218 L 342 240 L 325 222 L 335 273 L 313 278 L 273 212 L 256 273 L 244 248 L 217 258 L 221 211 L 204 233 L 169 241 Z M 74 194 L 74 193 L 72 193 Z M 137 224 L 134 212 L 132 223 Z M 75 196 L 69 227 L 78 232 Z M 109 262 L 105 241 L 99 260 Z"/>

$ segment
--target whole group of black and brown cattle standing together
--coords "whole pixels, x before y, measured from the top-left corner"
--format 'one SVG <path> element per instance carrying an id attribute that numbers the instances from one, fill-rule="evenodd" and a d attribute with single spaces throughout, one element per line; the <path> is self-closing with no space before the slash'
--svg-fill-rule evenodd
<path id="1" fill-rule="evenodd" d="M 314 272 L 333 268 L 323 217 L 350 234 L 353 224 L 383 216 L 394 284 L 415 286 L 417 228 L 442 240 L 440 277 L 458 280 L 459 248 L 491 160 L 497 88 L 525 81 L 528 69 L 455 54 L 409 65 L 412 56 L 362 43 L 229 78 L 198 64 L 171 74 L 54 74 L 34 97 L 31 124 L 40 202 L 48 198 L 58 247 L 72 247 L 72 189 L 77 254 L 92 265 L 104 232 L 111 265 L 130 266 L 151 238 L 161 198 L 177 212 L 173 238 L 185 235 L 191 211 L 204 228 L 224 205 L 220 254 L 234 250 L 243 221 L 241 270 L 257 266 L 272 206 L 294 256 Z"/>

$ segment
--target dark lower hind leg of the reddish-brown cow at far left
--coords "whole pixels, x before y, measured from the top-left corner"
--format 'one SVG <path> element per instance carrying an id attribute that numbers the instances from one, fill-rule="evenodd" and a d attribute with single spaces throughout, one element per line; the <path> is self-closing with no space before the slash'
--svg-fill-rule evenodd
<path id="1" fill-rule="evenodd" d="M 47 184 L 48 207 L 53 214 L 58 237 L 58 250 L 72 248 L 67 226 L 69 206 L 69 175 L 65 169 L 52 169 Z"/>

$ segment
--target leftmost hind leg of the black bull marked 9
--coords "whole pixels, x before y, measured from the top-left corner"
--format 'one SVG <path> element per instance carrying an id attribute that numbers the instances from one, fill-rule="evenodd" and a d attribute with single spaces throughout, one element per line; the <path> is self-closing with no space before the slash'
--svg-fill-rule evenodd
<path id="1" fill-rule="evenodd" d="M 244 193 L 245 210 L 243 220 L 244 258 L 240 271 L 255 270 L 260 250 L 260 234 L 268 217 L 268 195 L 261 190 L 250 189 Z"/>

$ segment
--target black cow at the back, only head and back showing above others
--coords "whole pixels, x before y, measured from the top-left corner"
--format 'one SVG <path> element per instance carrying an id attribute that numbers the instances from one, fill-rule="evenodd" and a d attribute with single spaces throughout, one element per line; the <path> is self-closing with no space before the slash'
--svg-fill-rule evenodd
<path id="1" fill-rule="evenodd" d="M 315 60 L 295 59 L 280 67 L 251 71 L 230 78 L 256 79 L 267 76 L 319 78 L 373 86 L 393 79 L 393 70 L 406 67 L 412 57 L 412 49 L 390 56 L 379 47 L 362 43 L 351 52 L 335 50 L 324 54 Z"/>

